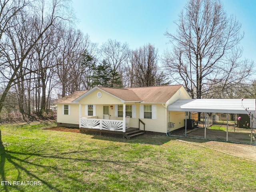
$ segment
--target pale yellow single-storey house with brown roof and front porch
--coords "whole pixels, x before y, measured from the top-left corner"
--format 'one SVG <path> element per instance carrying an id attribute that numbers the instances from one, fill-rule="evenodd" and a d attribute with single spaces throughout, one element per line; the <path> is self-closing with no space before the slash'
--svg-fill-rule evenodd
<path id="1" fill-rule="evenodd" d="M 80 130 L 123 133 L 127 132 L 127 127 L 140 127 L 140 130 L 145 127 L 147 132 L 166 134 L 185 126 L 185 112 L 167 110 L 167 106 L 178 99 L 190 99 L 183 85 L 96 86 L 57 100 L 57 124 Z"/>

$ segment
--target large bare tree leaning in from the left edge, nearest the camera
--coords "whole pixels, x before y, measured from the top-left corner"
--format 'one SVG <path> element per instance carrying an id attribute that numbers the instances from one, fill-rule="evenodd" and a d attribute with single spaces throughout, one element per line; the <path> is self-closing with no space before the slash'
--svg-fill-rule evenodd
<path id="1" fill-rule="evenodd" d="M 24 64 L 34 46 L 57 20 L 63 19 L 63 7 L 65 6 L 66 1 L 67 0 L 52 0 L 52 2 L 46 2 L 46 0 L 35 0 L 32 2 L 25 0 L 1 1 L 0 67 L 1 69 L 5 69 L 7 66 L 10 70 L 1 71 L 0 77 L 2 78 L 2 84 L 4 84 L 4 86 L 0 98 L 0 112 L 2 111 L 4 101 L 12 86 L 17 84 L 17 82 L 19 83 L 19 80 L 21 80 L 20 85 L 23 86 L 22 77 L 26 75 L 26 72 L 24 71 L 28 70 Z M 24 30 L 20 30 L 24 25 L 23 22 L 20 22 L 19 20 L 22 18 L 21 10 L 24 9 L 25 6 L 26 12 L 32 13 L 31 17 L 33 18 L 33 21 L 38 22 L 40 28 L 38 28 L 36 36 L 30 36 L 31 38 L 27 39 L 18 38 L 21 40 L 20 42 L 22 42 L 19 43 L 19 41 L 16 42 L 17 39 L 14 38 L 17 36 L 12 36 L 11 34 L 13 32 L 14 34 L 18 34 L 22 31 L 24 32 Z M 34 22 L 32 22 L 31 25 L 34 24 Z M 27 22 L 25 23 L 27 24 Z M 31 28 L 31 31 L 32 29 L 33 27 Z M 34 34 L 34 32 L 32 34 Z M 24 33 L 21 35 L 26 36 Z M 27 40 L 28 42 L 24 43 L 23 40 Z M 0 142 L 2 142 L 1 133 Z"/>

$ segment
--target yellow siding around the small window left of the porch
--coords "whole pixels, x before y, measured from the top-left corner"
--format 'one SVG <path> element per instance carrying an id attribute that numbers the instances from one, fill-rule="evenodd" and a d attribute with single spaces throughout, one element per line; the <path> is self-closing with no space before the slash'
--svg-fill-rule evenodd
<path id="1" fill-rule="evenodd" d="M 70 115 L 62 114 L 62 104 L 57 105 L 57 123 L 79 124 L 79 104 L 69 104 Z"/>

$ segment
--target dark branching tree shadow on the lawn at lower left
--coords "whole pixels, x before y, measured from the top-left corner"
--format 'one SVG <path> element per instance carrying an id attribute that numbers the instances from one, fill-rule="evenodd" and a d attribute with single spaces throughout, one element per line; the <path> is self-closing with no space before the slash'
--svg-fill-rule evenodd
<path id="1" fill-rule="evenodd" d="M 60 168 L 60 167 L 55 167 L 55 166 L 51 166 L 50 164 L 39 164 L 39 163 L 34 163 L 32 161 L 30 161 L 30 157 L 32 156 L 36 156 L 36 157 L 42 157 L 42 158 L 53 158 L 53 159 L 60 159 L 60 160 L 70 160 L 70 161 L 76 161 L 76 162 L 111 162 L 114 164 L 126 164 L 126 163 L 131 163 L 129 162 L 123 162 L 123 161 L 111 161 L 111 160 L 94 160 L 94 159 L 86 159 L 86 158 L 72 158 L 72 157 L 66 157 L 65 155 L 70 155 L 72 156 L 72 154 L 76 154 L 76 153 L 88 153 L 90 151 L 94 151 L 94 150 L 82 150 L 82 151 L 73 151 L 73 152 L 62 152 L 62 153 L 38 153 L 38 152 L 33 152 L 33 153 L 25 153 L 25 152 L 14 152 L 14 151 L 10 151 L 10 150 L 6 150 L 4 147 L 0 148 L 0 177 L 1 177 L 1 181 L 8 181 L 8 179 L 6 177 L 6 173 L 4 171 L 4 166 L 6 164 L 6 162 L 12 164 L 15 169 L 18 172 L 18 176 L 16 177 L 16 179 L 14 179 L 14 181 L 24 181 L 24 179 L 22 179 L 22 172 L 25 172 L 27 175 L 27 178 L 33 178 L 31 180 L 34 181 L 40 181 L 41 186 L 44 187 L 44 189 L 47 186 L 47 190 L 48 191 L 58 191 L 61 192 L 62 190 L 59 189 L 58 187 L 52 185 L 50 182 L 48 182 L 46 179 L 42 178 L 42 176 L 40 176 L 40 173 L 33 173 L 30 169 L 30 166 L 36 166 L 37 168 L 43 168 L 46 171 L 55 171 L 56 175 L 58 178 L 56 178 L 57 180 L 63 180 L 65 178 L 71 179 L 74 182 L 77 183 L 81 183 L 83 182 L 83 180 L 78 180 L 77 178 L 74 177 L 70 177 L 70 176 L 66 176 L 66 173 L 68 172 L 72 172 L 74 170 L 72 170 L 71 168 Z M 21 157 L 21 158 L 20 158 Z M 22 158 L 24 157 L 24 158 Z M 134 163 L 134 162 L 132 162 Z M 44 172 L 45 172 L 44 170 Z M 62 172 L 61 172 L 62 171 Z M 2 184 L 1 184 L 2 185 Z M 18 191 L 26 191 L 24 190 L 22 187 L 24 187 L 23 185 L 2 185 L 4 188 L 5 192 L 9 192 L 10 188 L 14 188 Z"/>

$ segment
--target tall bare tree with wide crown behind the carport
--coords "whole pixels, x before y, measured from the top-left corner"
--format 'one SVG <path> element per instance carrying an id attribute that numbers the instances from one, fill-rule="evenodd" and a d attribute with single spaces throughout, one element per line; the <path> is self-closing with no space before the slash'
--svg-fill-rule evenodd
<path id="1" fill-rule="evenodd" d="M 241 24 L 227 17 L 219 0 L 189 0 L 175 23 L 176 34 L 165 33 L 173 50 L 165 52 L 162 62 L 192 98 L 205 97 L 211 84 L 220 91 L 249 77 L 253 62 L 239 59 Z"/>

